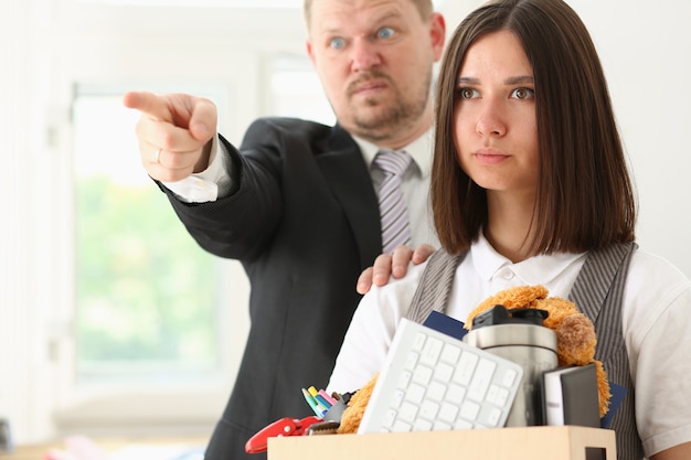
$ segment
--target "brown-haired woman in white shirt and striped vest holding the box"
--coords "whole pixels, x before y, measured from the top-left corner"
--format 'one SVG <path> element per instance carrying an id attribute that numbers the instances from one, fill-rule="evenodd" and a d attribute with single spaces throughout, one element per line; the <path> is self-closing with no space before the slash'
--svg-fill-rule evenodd
<path id="1" fill-rule="evenodd" d="M 691 458 L 691 282 L 634 243 L 631 179 L 581 19 L 561 0 L 480 7 L 451 36 L 436 104 L 443 248 L 363 298 L 329 389 L 381 371 L 401 318 L 465 320 L 500 290 L 543 285 L 593 320 L 596 359 L 628 388 L 612 426 L 618 458 Z"/>

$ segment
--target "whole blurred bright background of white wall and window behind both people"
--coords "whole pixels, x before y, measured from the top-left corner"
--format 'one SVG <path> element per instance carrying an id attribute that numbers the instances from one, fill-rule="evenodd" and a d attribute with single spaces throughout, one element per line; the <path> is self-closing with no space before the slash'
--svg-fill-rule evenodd
<path id="1" fill-rule="evenodd" d="M 435 2 L 449 33 L 480 3 Z M 568 3 L 609 81 L 639 243 L 691 276 L 691 3 Z M 211 432 L 247 284 L 187 235 L 120 99 L 210 97 L 235 142 L 258 116 L 331 124 L 304 43 L 301 0 L 0 3 L 0 418 L 15 442 Z"/>

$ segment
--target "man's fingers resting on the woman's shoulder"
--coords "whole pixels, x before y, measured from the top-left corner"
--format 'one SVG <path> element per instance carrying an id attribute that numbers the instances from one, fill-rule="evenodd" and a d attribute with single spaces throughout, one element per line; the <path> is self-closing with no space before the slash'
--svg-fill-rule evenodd
<path id="1" fill-rule="evenodd" d="M 384 286 L 391 277 L 403 278 L 407 274 L 408 264 L 422 264 L 434 253 L 435 248 L 427 244 L 419 245 L 415 250 L 408 246 L 398 246 L 393 254 L 382 254 L 372 267 L 368 267 L 358 278 L 358 292 L 366 293 L 372 285 Z"/>

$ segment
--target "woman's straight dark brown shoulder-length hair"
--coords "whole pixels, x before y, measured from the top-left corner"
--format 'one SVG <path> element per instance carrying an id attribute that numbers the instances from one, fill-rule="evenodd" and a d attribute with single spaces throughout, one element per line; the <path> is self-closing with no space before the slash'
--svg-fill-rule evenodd
<path id="1" fill-rule="evenodd" d="M 533 68 L 540 173 L 532 254 L 582 253 L 635 239 L 636 200 L 604 72 L 589 33 L 561 0 L 485 4 L 456 29 L 439 71 L 432 206 L 442 246 L 469 248 L 487 223 L 486 191 L 454 145 L 457 78 L 468 49 L 507 30 Z"/>

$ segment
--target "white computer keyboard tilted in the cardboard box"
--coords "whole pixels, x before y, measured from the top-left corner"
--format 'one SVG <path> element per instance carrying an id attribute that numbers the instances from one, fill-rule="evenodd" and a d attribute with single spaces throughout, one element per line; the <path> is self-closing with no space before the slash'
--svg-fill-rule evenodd
<path id="1" fill-rule="evenodd" d="M 523 368 L 403 319 L 358 432 L 503 427 Z"/>

